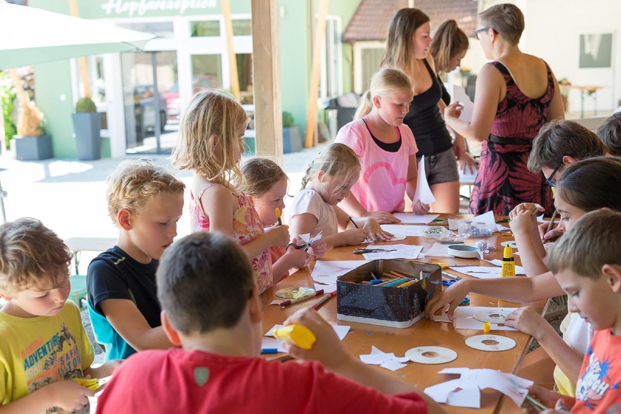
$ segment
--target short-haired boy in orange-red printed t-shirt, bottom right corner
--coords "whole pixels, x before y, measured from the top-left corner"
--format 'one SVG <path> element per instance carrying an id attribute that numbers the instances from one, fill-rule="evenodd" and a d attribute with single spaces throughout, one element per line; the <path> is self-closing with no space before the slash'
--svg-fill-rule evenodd
<path id="1" fill-rule="evenodd" d="M 621 403 L 619 234 L 621 214 L 597 210 L 582 216 L 550 251 L 548 263 L 567 292 L 569 310 L 589 320 L 596 333 L 584 354 L 576 398 L 531 387 L 529 394 L 546 407 L 564 412 L 572 407 L 573 413 L 611 413 L 607 410 Z"/>

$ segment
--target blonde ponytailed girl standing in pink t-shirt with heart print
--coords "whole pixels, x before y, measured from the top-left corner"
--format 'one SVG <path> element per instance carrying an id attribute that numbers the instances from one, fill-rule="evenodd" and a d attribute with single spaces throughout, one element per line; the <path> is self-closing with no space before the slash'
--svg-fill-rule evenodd
<path id="1" fill-rule="evenodd" d="M 361 178 L 339 203 L 349 215 L 396 223 L 399 219 L 390 213 L 404 210 L 406 193 L 414 199 L 418 149 L 412 130 L 403 124 L 413 96 L 405 73 L 383 68 L 371 78 L 354 120 L 338 131 L 335 142 L 349 146 L 361 164 Z M 429 206 L 419 200 L 412 210 L 426 214 Z"/>

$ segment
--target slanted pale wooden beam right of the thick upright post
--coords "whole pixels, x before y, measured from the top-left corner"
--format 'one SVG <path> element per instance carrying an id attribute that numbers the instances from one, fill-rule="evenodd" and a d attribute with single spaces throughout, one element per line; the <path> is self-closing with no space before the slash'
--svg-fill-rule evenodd
<path id="1" fill-rule="evenodd" d="M 312 0 L 311 0 L 312 1 Z M 306 135 L 304 146 L 310 148 L 315 143 L 314 132 L 317 123 L 317 96 L 319 96 L 319 78 L 321 75 L 321 47 L 325 38 L 325 15 L 328 14 L 328 0 L 319 0 L 319 12 L 314 26 L 311 86 L 309 87 L 307 112 L 306 112 Z M 314 16 L 311 16 L 311 22 Z"/>

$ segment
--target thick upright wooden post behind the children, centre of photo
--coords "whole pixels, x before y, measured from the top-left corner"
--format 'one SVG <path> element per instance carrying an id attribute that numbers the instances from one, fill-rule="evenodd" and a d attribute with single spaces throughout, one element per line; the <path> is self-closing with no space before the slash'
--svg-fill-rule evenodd
<path id="1" fill-rule="evenodd" d="M 280 92 L 278 0 L 252 0 L 252 88 L 255 148 L 283 164 L 283 110 Z"/>

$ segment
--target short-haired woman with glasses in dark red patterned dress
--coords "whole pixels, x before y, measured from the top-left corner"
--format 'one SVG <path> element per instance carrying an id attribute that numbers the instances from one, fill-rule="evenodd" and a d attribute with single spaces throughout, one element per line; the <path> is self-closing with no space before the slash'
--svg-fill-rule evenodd
<path id="1" fill-rule="evenodd" d="M 459 119 L 458 102 L 445 109 L 446 124 L 456 133 L 483 142 L 469 212 L 508 215 L 521 202 L 532 202 L 551 214 L 546 178 L 528 171 L 527 161 L 542 125 L 564 118 L 558 83 L 545 61 L 517 47 L 524 30 L 518 7 L 498 4 L 482 12 L 479 20 L 481 27 L 474 34 L 486 58 L 494 61 L 483 66 L 476 79 L 472 119 Z"/>

